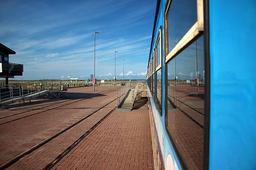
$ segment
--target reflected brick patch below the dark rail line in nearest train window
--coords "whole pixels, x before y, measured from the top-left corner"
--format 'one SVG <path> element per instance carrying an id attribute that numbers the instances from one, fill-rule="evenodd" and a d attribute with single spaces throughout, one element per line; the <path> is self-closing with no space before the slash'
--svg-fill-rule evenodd
<path id="1" fill-rule="evenodd" d="M 203 129 L 180 110 L 168 114 L 168 125 L 189 169 L 203 169 Z"/>

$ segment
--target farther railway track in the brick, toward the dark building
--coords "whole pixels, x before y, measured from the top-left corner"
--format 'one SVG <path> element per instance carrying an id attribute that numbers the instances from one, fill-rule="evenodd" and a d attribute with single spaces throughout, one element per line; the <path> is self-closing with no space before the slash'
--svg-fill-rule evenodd
<path id="1" fill-rule="evenodd" d="M 20 120 L 20 119 L 23 119 L 23 118 L 27 118 L 27 117 L 29 117 L 29 116 L 41 114 L 41 113 L 44 113 L 44 112 L 49 111 L 49 110 L 53 110 L 53 109 L 56 109 L 56 108 L 59 108 L 59 107 L 63 107 L 63 106 L 66 106 L 66 105 L 68 105 L 68 104 L 76 103 L 76 102 L 79 102 L 79 101 L 82 101 L 82 100 L 87 100 L 87 99 L 90 98 L 90 97 L 95 97 L 95 96 L 102 95 L 102 94 L 111 92 L 111 91 L 113 91 L 113 90 L 118 90 L 118 89 L 119 89 L 119 88 L 114 88 L 114 89 L 112 89 L 112 90 L 106 90 L 106 91 L 103 91 L 103 92 L 97 93 L 97 94 L 83 95 L 83 96 L 80 96 L 79 98 L 70 99 L 70 100 L 65 100 L 65 101 L 63 101 L 63 102 L 56 102 L 56 103 L 50 104 L 50 105 L 48 105 L 48 106 L 43 106 L 43 107 L 35 108 L 35 109 L 32 109 L 32 110 L 23 111 L 23 112 L 19 112 L 19 113 L 16 113 L 16 114 L 4 116 L 4 117 L 1 117 L 0 120 L 1 120 L 1 119 L 4 119 L 4 118 L 16 116 L 16 115 L 28 113 L 28 112 L 35 111 L 35 110 L 40 110 L 40 109 L 42 109 L 42 108 L 52 107 L 52 106 L 54 106 L 54 105 L 61 104 L 60 106 L 56 106 L 56 107 L 53 107 L 53 108 L 49 108 L 49 109 L 46 109 L 46 110 L 44 110 L 44 111 L 40 111 L 40 112 L 37 112 L 37 113 L 34 113 L 34 114 L 26 115 L 26 116 L 23 116 L 23 117 L 20 117 L 20 118 L 16 118 L 16 119 L 13 119 L 13 120 L 8 120 L 8 121 L 6 121 L 6 122 L 0 123 L 0 126 L 3 125 L 3 124 L 6 124 L 6 123 L 13 122 L 13 121 L 15 121 L 15 120 Z M 85 97 L 85 98 L 84 98 L 84 97 Z M 80 99 L 80 98 L 83 98 L 83 99 Z M 80 100 L 76 100 L 76 99 L 80 99 Z M 74 100 L 75 100 L 75 101 L 74 101 Z"/>

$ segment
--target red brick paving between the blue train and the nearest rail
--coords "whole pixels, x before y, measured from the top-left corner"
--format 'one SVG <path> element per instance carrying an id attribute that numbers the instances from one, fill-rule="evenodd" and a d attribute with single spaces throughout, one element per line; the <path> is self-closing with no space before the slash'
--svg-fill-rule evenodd
<path id="1" fill-rule="evenodd" d="M 114 111 L 53 169 L 154 169 L 149 126 L 145 103 Z"/>

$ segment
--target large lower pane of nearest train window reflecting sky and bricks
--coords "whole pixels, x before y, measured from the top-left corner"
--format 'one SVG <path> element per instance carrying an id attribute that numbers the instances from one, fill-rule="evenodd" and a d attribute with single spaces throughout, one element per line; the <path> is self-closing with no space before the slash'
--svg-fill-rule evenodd
<path id="1" fill-rule="evenodd" d="M 189 169 L 203 169 L 204 69 L 203 35 L 167 63 L 167 129 Z"/>

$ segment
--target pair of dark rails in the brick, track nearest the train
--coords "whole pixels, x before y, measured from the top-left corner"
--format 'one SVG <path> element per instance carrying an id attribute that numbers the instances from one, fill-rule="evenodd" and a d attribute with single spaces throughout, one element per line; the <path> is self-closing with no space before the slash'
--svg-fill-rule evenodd
<path id="1" fill-rule="evenodd" d="M 114 90 L 114 89 L 113 89 Z M 112 90 L 112 91 L 113 91 Z M 4 165 L 2 164 L 2 166 L 0 165 L 0 169 L 6 169 L 8 167 L 10 167 L 11 165 L 13 165 L 14 163 L 18 162 L 20 159 L 26 157 L 27 155 L 29 155 L 30 153 L 34 152 L 35 150 L 39 149 L 40 147 L 44 146 L 45 144 L 47 144 L 48 142 L 52 141 L 53 139 L 59 137 L 61 134 L 67 132 L 67 130 L 71 129 L 72 127 L 75 128 L 76 125 L 78 125 L 79 123 L 81 123 L 83 120 L 86 120 L 87 118 L 89 118 L 90 116 L 96 114 L 98 111 L 100 111 L 102 108 L 108 106 L 110 103 L 114 102 L 113 99 L 110 102 L 103 104 L 101 107 L 97 108 L 96 110 L 90 112 L 90 114 L 87 114 L 86 116 L 84 116 L 83 118 L 80 118 L 79 120 L 77 120 L 76 122 L 70 124 L 69 126 L 65 127 L 64 129 L 60 130 L 59 133 L 56 133 L 55 135 L 53 135 L 52 137 L 45 139 L 44 141 L 42 141 L 41 143 L 38 143 L 37 145 L 31 147 L 29 150 L 23 152 L 22 154 L 19 154 L 18 156 L 16 156 L 14 159 L 12 159 L 9 162 L 5 162 Z M 110 108 L 111 109 L 111 108 Z M 69 153 L 69 151 L 71 151 L 76 145 L 78 145 L 79 142 L 81 142 L 93 129 L 95 129 L 95 127 L 97 127 L 104 119 L 106 119 L 114 110 L 116 109 L 116 106 L 112 106 L 112 110 L 110 110 L 107 114 L 105 114 L 105 116 L 103 116 L 98 122 L 95 122 L 95 124 L 93 126 L 90 127 L 89 130 L 87 130 L 83 135 L 80 136 L 80 138 L 78 138 L 74 143 L 72 143 L 72 145 L 70 145 L 69 147 L 67 147 L 67 149 L 65 151 L 63 151 L 61 154 L 59 154 L 58 157 L 56 157 L 52 162 L 50 162 L 48 165 L 45 166 L 44 169 L 50 169 L 52 168 L 57 162 L 59 162 L 66 154 Z"/>

